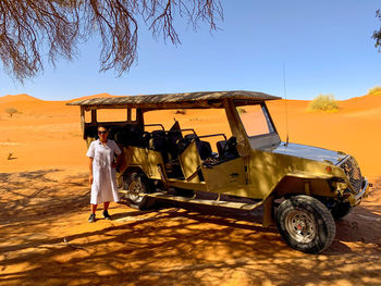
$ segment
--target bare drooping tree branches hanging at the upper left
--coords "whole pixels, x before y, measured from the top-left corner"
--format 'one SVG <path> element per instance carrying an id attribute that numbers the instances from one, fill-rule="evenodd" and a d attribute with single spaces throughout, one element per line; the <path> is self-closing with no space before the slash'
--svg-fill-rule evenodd
<path id="1" fill-rule="evenodd" d="M 175 17 L 197 28 L 206 22 L 213 30 L 223 20 L 220 0 L 1 0 L 0 59 L 17 80 L 44 71 L 45 58 L 54 65 L 72 60 L 78 42 L 99 35 L 100 71 L 121 75 L 137 59 L 138 17 L 153 37 L 180 43 Z"/>

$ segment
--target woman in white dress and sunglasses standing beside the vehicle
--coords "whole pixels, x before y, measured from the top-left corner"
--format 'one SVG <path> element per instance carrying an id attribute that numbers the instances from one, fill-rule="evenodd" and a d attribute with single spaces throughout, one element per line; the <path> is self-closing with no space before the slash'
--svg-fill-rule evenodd
<path id="1" fill-rule="evenodd" d="M 114 153 L 119 159 L 122 153 L 115 141 L 108 139 L 109 132 L 105 126 L 98 127 L 98 140 L 91 142 L 87 151 L 89 157 L 89 183 L 91 184 L 90 223 L 96 221 L 98 203 L 103 203 L 103 216 L 110 220 L 108 212 L 110 201 L 119 201 Z"/>

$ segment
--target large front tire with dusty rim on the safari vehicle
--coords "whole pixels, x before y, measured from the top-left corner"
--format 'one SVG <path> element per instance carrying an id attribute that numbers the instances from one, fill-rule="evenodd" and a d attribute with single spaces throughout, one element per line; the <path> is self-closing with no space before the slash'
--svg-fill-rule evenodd
<path id="1" fill-rule="evenodd" d="M 306 253 L 320 253 L 333 241 L 336 225 L 331 212 L 319 200 L 295 196 L 276 210 L 276 226 L 292 248 Z"/>

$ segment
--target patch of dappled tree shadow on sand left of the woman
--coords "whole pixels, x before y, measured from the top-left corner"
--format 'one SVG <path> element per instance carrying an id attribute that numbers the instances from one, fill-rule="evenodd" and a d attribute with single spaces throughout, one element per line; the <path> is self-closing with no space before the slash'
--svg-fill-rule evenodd
<path id="1" fill-rule="evenodd" d="M 63 181 L 57 181 L 54 173 L 62 170 L 40 170 L 34 172 L 0 173 L 0 225 L 10 222 L 23 222 L 41 216 L 62 213 L 81 208 L 87 203 L 87 197 L 83 194 L 65 190 L 73 187 L 85 187 L 84 176 L 71 176 Z M 88 191 L 87 191 L 88 192 Z M 66 208 L 70 207 L 70 208 Z"/>

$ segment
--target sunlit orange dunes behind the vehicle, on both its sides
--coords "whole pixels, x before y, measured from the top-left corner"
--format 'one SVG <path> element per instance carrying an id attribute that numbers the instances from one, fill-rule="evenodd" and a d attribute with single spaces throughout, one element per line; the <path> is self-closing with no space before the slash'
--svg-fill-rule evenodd
<path id="1" fill-rule="evenodd" d="M 381 95 L 378 88 L 370 91 L 362 97 L 337 101 L 340 109 L 336 113 L 308 112 L 309 100 L 274 100 L 269 101 L 268 107 L 282 140 L 285 140 L 288 130 L 293 142 L 351 153 L 359 161 L 366 175 L 380 175 Z M 3 136 L 0 144 L 8 146 L 0 148 L 0 172 L 53 165 L 86 169 L 79 109 L 67 107 L 66 102 L 99 97 L 114 96 L 103 92 L 66 101 L 40 100 L 25 94 L 0 97 L 0 132 Z M 17 110 L 12 117 L 5 112 L 9 108 Z M 147 123 L 173 120 L 173 112 L 165 113 L 164 117 L 151 112 L 147 114 Z M 182 115 L 187 120 L 192 116 L 195 116 L 194 112 Z M 210 111 L 208 121 L 221 122 L 220 119 L 221 113 Z M 221 129 L 221 126 L 217 124 L 213 128 Z M 17 160 L 5 160 L 9 152 L 14 153 Z M 44 157 L 40 156 L 42 153 Z"/>

